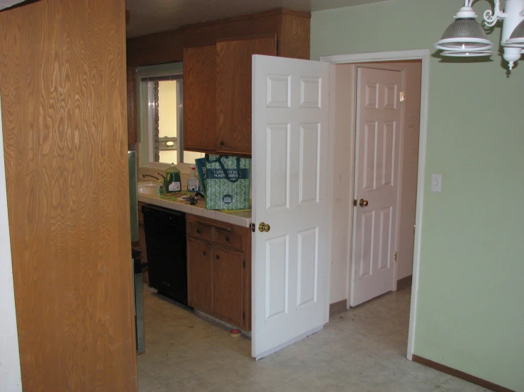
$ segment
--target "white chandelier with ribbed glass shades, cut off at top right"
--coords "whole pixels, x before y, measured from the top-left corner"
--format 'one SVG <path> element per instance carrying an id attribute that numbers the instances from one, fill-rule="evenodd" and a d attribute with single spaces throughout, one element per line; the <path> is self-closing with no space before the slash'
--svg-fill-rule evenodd
<path id="1" fill-rule="evenodd" d="M 494 54 L 493 44 L 484 28 L 478 23 L 473 11 L 474 0 L 465 0 L 464 6 L 455 15 L 453 22 L 444 32 L 435 47 L 442 50 L 442 56 L 482 57 Z M 503 59 L 508 62 L 511 71 L 520 59 L 524 48 L 524 0 L 506 0 L 506 9 L 501 11 L 500 0 L 494 0 L 494 9 L 484 12 L 484 24 L 494 27 L 503 21 L 501 45 L 504 48 Z"/>

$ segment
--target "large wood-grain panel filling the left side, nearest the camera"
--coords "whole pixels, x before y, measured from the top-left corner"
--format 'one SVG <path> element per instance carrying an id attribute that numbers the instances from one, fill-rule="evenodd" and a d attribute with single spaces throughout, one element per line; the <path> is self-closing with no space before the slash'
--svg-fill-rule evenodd
<path id="1" fill-rule="evenodd" d="M 136 391 L 124 0 L 0 13 L 24 391 Z"/>

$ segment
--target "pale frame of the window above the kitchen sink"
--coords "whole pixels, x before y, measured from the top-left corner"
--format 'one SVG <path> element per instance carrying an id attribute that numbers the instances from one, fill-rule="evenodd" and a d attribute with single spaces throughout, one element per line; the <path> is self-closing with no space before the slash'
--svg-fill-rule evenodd
<path id="1" fill-rule="evenodd" d="M 149 91 L 147 89 L 147 81 L 142 81 L 142 79 L 145 78 L 154 78 L 154 77 L 161 77 L 161 76 L 183 76 L 183 63 L 177 62 L 177 63 L 169 63 L 169 64 L 160 64 L 160 65 L 150 65 L 146 67 L 138 67 L 136 72 L 136 83 L 137 83 L 137 103 L 138 103 L 138 125 L 139 125 L 139 134 L 140 134 L 140 158 L 139 158 L 139 165 L 140 168 L 155 168 L 160 171 L 164 171 L 166 168 L 170 166 L 170 163 L 162 163 L 162 162 L 155 162 L 152 161 L 152 137 L 153 135 L 150 134 L 149 128 L 148 128 L 148 120 L 149 116 L 148 113 L 150 111 L 149 109 Z M 177 160 L 180 161 L 180 157 L 184 154 L 184 127 L 182 126 L 182 119 L 183 119 L 183 108 L 184 108 L 184 82 L 182 78 L 182 94 L 179 96 L 182 100 L 179 113 L 179 132 L 177 134 L 177 151 L 179 154 L 177 154 Z M 180 132 L 180 130 L 182 132 Z M 182 151 L 182 154 L 180 154 Z M 182 170 L 188 170 L 191 168 L 190 163 L 177 163 L 177 167 Z"/>

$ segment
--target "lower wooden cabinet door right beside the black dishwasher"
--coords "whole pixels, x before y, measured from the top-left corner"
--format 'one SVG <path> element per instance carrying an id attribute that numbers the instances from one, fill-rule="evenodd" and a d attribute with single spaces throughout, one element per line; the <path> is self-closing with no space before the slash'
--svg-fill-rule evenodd
<path id="1" fill-rule="evenodd" d="M 206 243 L 187 240 L 187 302 L 205 313 L 213 312 L 212 250 Z"/>

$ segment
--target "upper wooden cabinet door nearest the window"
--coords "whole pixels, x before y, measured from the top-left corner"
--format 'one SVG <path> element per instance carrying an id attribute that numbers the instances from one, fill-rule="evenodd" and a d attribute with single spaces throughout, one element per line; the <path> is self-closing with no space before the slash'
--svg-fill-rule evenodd
<path id="1" fill-rule="evenodd" d="M 184 149 L 215 151 L 216 47 L 184 49 Z"/>

